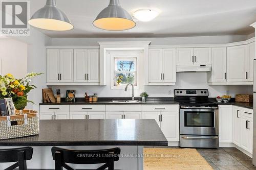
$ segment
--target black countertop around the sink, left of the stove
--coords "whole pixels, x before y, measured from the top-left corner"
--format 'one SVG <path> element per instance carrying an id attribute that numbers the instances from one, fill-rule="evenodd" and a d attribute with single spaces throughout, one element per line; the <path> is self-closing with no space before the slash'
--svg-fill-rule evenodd
<path id="1" fill-rule="evenodd" d="M 84 98 L 76 98 L 75 102 L 66 102 L 64 98 L 61 98 L 60 103 L 40 103 L 39 105 L 178 105 L 179 102 L 174 101 L 173 98 L 148 98 L 146 102 L 137 103 L 116 103 L 111 101 L 126 101 L 131 100 L 131 98 L 98 98 L 98 102 L 86 102 Z M 141 98 L 135 98 L 135 100 L 141 101 Z"/>

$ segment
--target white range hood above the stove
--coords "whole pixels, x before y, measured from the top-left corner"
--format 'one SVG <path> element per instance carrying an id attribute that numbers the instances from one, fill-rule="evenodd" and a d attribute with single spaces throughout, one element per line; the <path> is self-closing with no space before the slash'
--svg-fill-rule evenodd
<path id="1" fill-rule="evenodd" d="M 211 65 L 177 65 L 176 72 L 210 72 Z"/>

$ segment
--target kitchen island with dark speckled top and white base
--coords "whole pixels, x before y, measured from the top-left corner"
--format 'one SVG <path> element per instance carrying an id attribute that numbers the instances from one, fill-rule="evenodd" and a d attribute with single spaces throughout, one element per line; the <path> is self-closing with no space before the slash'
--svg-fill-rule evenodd
<path id="1" fill-rule="evenodd" d="M 54 169 L 51 147 L 67 149 L 106 149 L 116 146 L 121 157 L 115 162 L 117 169 L 143 169 L 143 146 L 166 145 L 168 142 L 153 119 L 72 119 L 40 120 L 39 135 L 0 140 L 1 148 L 34 148 L 28 168 Z M 0 165 L 4 169 L 7 165 Z M 84 166 L 73 166 L 84 168 Z M 97 166 L 86 166 L 95 168 Z"/>

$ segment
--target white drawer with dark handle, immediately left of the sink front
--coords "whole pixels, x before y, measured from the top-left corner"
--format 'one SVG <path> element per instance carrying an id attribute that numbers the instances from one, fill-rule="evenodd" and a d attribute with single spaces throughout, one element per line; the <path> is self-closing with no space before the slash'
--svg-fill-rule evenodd
<path id="1" fill-rule="evenodd" d="M 106 111 L 106 105 L 70 105 L 70 112 Z"/>

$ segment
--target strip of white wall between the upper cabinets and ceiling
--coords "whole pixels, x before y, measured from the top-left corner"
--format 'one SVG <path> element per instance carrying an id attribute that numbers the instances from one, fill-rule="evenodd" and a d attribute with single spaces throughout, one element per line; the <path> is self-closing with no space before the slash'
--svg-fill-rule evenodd
<path id="1" fill-rule="evenodd" d="M 99 45 L 98 41 L 151 41 L 151 45 L 212 44 L 244 41 L 247 35 L 168 37 L 168 38 L 52 38 L 47 45 Z"/>

